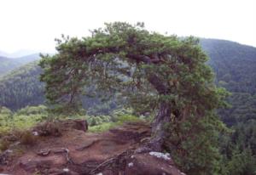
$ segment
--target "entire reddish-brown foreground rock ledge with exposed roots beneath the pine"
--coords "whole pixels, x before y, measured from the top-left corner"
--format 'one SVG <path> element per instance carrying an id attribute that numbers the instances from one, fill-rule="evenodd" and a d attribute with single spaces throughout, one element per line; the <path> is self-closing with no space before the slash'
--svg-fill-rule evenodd
<path id="1" fill-rule="evenodd" d="M 158 152 L 135 154 L 143 140 L 150 136 L 151 128 L 146 123 L 125 123 L 104 133 L 84 133 L 84 124 L 80 129 L 67 127 L 73 126 L 69 124 L 62 126 L 66 126 L 65 130 L 61 130 L 58 137 L 38 134 L 37 144 L 22 147 L 23 154 L 13 156 L 15 159 L 7 165 L 0 165 L 0 173 L 183 175 L 174 166 L 170 155 Z"/>

